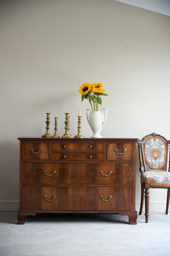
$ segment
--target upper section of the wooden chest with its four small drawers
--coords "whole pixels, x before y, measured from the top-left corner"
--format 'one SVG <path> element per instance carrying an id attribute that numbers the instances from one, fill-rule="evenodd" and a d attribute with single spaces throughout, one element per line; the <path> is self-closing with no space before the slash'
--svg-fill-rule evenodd
<path id="1" fill-rule="evenodd" d="M 19 138 L 22 160 L 133 161 L 136 139 Z"/>

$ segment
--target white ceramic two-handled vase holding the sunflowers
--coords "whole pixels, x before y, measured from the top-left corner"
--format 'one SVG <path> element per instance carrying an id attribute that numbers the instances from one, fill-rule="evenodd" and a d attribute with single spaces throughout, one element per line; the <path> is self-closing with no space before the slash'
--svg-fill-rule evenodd
<path id="1" fill-rule="evenodd" d="M 100 135 L 100 132 L 107 119 L 107 108 L 102 108 L 102 111 L 92 111 L 87 109 L 86 116 L 89 126 L 93 131 L 93 135 L 91 137 L 101 138 L 102 136 Z"/>

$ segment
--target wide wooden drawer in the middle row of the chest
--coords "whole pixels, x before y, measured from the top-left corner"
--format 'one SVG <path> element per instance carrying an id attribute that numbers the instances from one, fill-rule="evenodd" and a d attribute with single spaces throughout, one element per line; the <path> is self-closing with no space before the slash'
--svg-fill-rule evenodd
<path id="1" fill-rule="evenodd" d="M 132 163 L 23 163 L 23 184 L 132 184 Z"/>

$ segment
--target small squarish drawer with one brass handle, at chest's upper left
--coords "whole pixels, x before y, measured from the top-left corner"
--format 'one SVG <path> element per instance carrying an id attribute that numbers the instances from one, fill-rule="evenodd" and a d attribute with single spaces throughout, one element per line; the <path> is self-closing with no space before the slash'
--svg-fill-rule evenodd
<path id="1" fill-rule="evenodd" d="M 23 142 L 22 160 L 49 160 L 49 143 Z"/>

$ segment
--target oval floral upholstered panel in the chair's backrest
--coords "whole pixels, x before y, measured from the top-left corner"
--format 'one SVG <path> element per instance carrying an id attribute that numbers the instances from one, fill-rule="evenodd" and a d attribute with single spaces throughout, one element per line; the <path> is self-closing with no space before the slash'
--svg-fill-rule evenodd
<path id="1" fill-rule="evenodd" d="M 165 164 L 166 146 L 161 139 L 157 137 L 148 139 L 145 142 L 144 152 L 145 160 L 150 168 L 160 169 L 163 167 Z"/>

